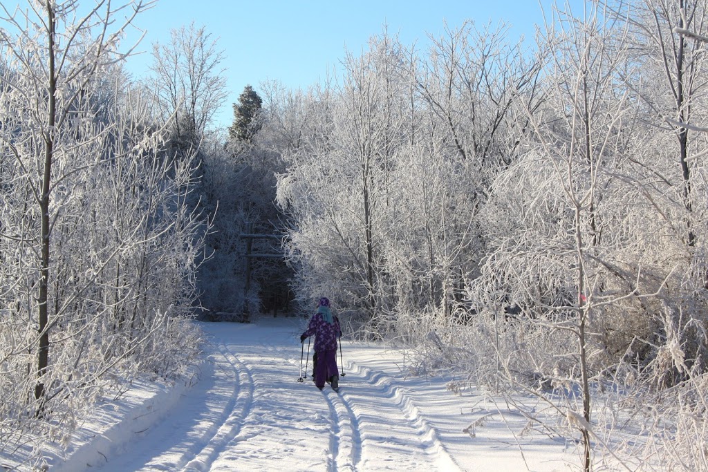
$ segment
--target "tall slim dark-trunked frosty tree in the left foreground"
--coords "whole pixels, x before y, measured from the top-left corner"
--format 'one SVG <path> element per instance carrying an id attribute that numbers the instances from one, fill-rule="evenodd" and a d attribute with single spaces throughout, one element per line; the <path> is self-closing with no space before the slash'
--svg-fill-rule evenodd
<path id="1" fill-rule="evenodd" d="M 52 232 L 62 216 L 64 180 L 84 165 L 72 162 L 67 149 L 96 149 L 96 142 L 102 139 L 101 134 L 94 132 L 100 124 L 94 125 L 91 120 L 89 93 L 97 76 L 122 58 L 115 46 L 122 30 L 135 16 L 130 16 L 112 33 L 108 32 L 107 22 L 103 28 L 91 30 L 89 21 L 103 13 L 101 6 L 103 2 L 93 8 L 86 23 L 74 25 L 67 23 L 67 10 L 73 11 L 76 6 L 38 5 L 33 13 L 42 23 L 32 23 L 37 29 L 26 32 L 20 25 L 21 18 L 28 18 L 26 14 L 6 11 L 8 29 L 2 30 L 4 57 L 8 60 L 3 81 L 5 110 L 12 120 L 5 122 L 3 141 L 18 172 L 13 180 L 23 182 L 23 200 L 37 208 L 36 218 L 31 216 L 33 212 L 28 215 L 29 221 L 23 218 L 27 226 L 5 225 L 5 231 L 6 236 L 14 236 L 22 245 L 29 243 L 37 258 L 36 263 L 28 261 L 28 268 L 36 275 L 31 285 L 36 284 L 37 294 L 33 297 L 36 304 L 31 303 L 32 308 L 27 309 L 34 312 L 32 318 L 37 323 L 34 396 L 38 415 L 45 410 L 50 332 L 56 324 L 50 320 Z M 106 7 L 108 14 L 113 14 L 110 6 Z M 142 3 L 136 4 L 135 13 L 143 8 Z M 29 231 L 26 238 L 20 236 L 25 231 L 15 234 L 25 228 Z M 36 233 L 32 234 L 33 231 Z"/>

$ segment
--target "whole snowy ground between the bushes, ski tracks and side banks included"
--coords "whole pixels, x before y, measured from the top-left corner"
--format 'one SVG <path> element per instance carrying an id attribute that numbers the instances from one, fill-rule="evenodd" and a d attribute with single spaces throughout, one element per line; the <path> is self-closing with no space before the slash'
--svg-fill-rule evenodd
<path id="1" fill-rule="evenodd" d="M 79 470 L 82 461 L 86 470 L 103 472 L 448 472 L 529 466 L 530 455 L 522 456 L 508 434 L 510 421 L 520 428 L 523 418 L 506 413 L 486 437 L 471 437 L 462 430 L 485 415 L 491 418 L 482 408 L 489 406 L 484 399 L 455 396 L 441 379 L 406 376 L 396 352 L 343 341 L 346 375 L 340 390 L 319 391 L 311 376 L 312 351 L 307 379 L 297 381 L 303 320 L 265 318 L 202 328 L 209 339 L 207 362 L 193 386 L 180 396 L 164 395 L 170 401 L 158 398 L 143 405 L 144 411 L 129 413 L 120 427 L 103 434 L 110 440 L 94 441 L 98 456 L 91 459 L 84 451 L 58 470 Z M 550 445 L 541 446 L 535 462 L 544 466 L 532 470 L 564 468 L 557 444 L 550 448 L 554 461 L 547 454 Z"/>

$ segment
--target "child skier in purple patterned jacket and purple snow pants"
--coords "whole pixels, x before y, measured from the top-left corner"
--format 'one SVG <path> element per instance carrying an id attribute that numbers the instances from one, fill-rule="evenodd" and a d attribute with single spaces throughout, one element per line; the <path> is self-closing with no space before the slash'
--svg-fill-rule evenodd
<path id="1" fill-rule="evenodd" d="M 339 370 L 337 369 L 337 336 L 342 335 L 339 320 L 329 308 L 329 299 L 319 299 L 317 313 L 312 315 L 307 330 L 300 336 L 300 343 L 314 335 L 314 351 L 317 355 L 314 384 L 320 390 L 324 382 L 329 381 L 336 391 L 339 388 Z"/>

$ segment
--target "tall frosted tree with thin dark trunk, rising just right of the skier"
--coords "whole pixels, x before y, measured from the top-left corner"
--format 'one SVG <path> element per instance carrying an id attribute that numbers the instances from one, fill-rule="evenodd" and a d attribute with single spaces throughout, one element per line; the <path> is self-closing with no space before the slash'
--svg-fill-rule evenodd
<path id="1" fill-rule="evenodd" d="M 287 156 L 281 205 L 295 217 L 293 247 L 311 294 L 329 292 L 376 323 L 387 290 L 379 271 L 389 207 L 389 175 L 404 142 L 401 46 L 384 33 L 371 51 L 348 54 L 346 75 L 316 141 Z M 325 111 L 325 110 L 323 110 Z M 325 114 L 325 116 L 326 116 Z M 303 267 L 305 267 L 303 266 Z M 334 296 L 334 295 L 333 295 Z"/>

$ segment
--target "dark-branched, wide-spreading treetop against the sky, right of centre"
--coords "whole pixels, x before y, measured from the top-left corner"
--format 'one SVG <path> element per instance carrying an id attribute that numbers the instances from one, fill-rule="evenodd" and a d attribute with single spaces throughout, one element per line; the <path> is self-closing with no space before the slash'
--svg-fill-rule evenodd
<path id="1" fill-rule="evenodd" d="M 530 108 L 539 102 L 541 58 L 522 43 L 510 44 L 504 25 L 492 30 L 466 21 L 431 40 L 416 81 L 449 137 L 447 145 L 479 168 L 503 168 L 518 145 L 511 115 L 520 101 Z"/>

